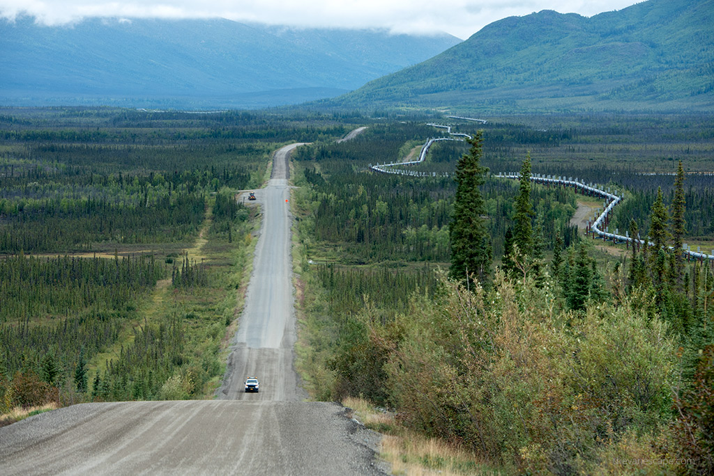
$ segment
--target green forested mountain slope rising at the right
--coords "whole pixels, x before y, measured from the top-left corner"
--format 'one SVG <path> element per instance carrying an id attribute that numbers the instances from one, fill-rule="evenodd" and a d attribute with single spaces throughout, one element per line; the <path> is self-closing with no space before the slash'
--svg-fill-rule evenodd
<path id="1" fill-rule="evenodd" d="M 714 0 L 649 0 L 586 18 L 496 21 L 416 66 L 326 101 L 452 111 L 714 109 Z"/>

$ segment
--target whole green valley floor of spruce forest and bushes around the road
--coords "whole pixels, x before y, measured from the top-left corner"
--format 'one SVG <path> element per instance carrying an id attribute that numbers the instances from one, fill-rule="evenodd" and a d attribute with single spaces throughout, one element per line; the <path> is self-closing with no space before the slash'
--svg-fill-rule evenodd
<path id="1" fill-rule="evenodd" d="M 488 119 L 2 110 L 0 413 L 210 396 L 259 221 L 236 194 L 304 142 L 293 263 L 311 398 L 364 398 L 504 473 L 608 474 L 618 458 L 713 472 L 714 260 L 680 252 L 714 254 L 712 118 Z M 428 177 L 369 168 L 444 135 L 428 123 L 481 139 L 434 145 L 413 166 Z M 653 245 L 584 234 L 571 219 L 602 200 L 535 174 L 619 190 L 610 229 Z"/>

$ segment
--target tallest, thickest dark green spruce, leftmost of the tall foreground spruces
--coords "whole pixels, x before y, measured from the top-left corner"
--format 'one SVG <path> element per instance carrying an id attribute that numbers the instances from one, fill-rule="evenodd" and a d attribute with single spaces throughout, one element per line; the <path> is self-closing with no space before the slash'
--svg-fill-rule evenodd
<path id="1" fill-rule="evenodd" d="M 486 227 L 486 201 L 479 187 L 486 181 L 488 169 L 481 165 L 483 131 L 468 139 L 471 149 L 456 164 L 456 196 L 453 219 L 449 224 L 451 237 L 451 277 L 469 285 L 475 276 L 488 284 L 493 248 Z"/>

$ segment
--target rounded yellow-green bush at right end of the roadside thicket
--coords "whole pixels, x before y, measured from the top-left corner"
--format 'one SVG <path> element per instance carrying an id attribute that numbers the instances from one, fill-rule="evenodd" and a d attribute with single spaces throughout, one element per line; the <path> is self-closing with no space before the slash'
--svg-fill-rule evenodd
<path id="1" fill-rule="evenodd" d="M 603 428 L 653 430 L 670 414 L 675 359 L 668 328 L 629 307 L 588 309 L 575 321 L 568 385 L 598 400 Z"/>

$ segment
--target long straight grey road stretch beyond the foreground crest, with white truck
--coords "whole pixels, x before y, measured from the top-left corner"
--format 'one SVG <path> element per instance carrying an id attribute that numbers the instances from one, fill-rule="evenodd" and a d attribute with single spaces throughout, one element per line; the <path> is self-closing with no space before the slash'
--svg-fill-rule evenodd
<path id="1" fill-rule="evenodd" d="M 303 400 L 293 371 L 295 316 L 290 257 L 288 156 L 300 144 L 281 148 L 273 158 L 268 186 L 256 191 L 263 220 L 253 259 L 238 333 L 218 398 L 228 400 Z M 249 376 L 261 382 L 258 393 L 244 392 Z"/>

